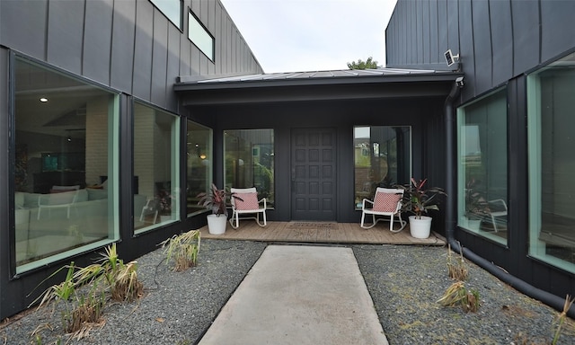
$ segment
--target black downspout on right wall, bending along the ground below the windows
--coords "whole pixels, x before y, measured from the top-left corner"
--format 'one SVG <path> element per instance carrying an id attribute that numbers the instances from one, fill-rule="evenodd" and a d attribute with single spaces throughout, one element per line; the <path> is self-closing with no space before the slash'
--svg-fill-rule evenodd
<path id="1" fill-rule="evenodd" d="M 453 103 L 459 96 L 461 88 L 464 86 L 464 77 L 460 76 L 456 79 L 456 83 L 453 84 L 449 95 L 445 102 L 445 120 L 446 120 L 446 149 L 447 149 L 447 172 L 446 172 L 446 192 L 447 195 L 452 197 L 446 198 L 446 237 L 447 243 L 451 248 L 459 253 L 463 253 L 464 257 L 469 261 L 473 261 L 476 265 L 481 267 L 483 270 L 487 270 L 497 279 L 500 279 L 504 283 L 508 284 L 510 287 L 517 289 L 517 291 L 535 298 L 545 305 L 553 307 L 553 309 L 562 312 L 565 300 L 559 296 L 555 296 L 547 291 L 540 288 L 535 288 L 534 286 L 526 283 L 526 281 L 518 279 L 512 276 L 505 270 L 496 266 L 493 262 L 483 259 L 481 256 L 464 248 L 456 241 L 456 198 L 453 196 L 457 192 L 457 175 L 456 175 L 456 119 L 454 116 Z M 571 318 L 575 318 L 575 306 L 571 306 L 567 315 Z"/>

